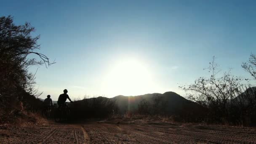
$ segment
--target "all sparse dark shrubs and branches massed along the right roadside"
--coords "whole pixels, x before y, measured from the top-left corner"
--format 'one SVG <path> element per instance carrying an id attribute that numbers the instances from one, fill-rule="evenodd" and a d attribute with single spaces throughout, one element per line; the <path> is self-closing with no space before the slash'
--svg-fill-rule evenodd
<path id="1" fill-rule="evenodd" d="M 231 125 L 253 125 L 256 123 L 256 55 L 242 64 L 243 69 L 253 77 L 238 77 L 222 72 L 214 61 L 206 69 L 209 77 L 200 77 L 195 83 L 182 85 L 187 91 L 187 99 L 195 101 L 207 109 L 203 120 L 207 123 Z"/>

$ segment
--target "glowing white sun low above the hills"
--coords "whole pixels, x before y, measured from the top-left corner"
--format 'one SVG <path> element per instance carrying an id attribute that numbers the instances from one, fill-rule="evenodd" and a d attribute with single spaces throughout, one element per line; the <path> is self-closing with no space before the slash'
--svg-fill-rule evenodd
<path id="1" fill-rule="evenodd" d="M 104 89 L 107 93 L 126 96 L 147 93 L 153 87 L 152 71 L 137 59 L 117 61 L 107 73 Z"/>

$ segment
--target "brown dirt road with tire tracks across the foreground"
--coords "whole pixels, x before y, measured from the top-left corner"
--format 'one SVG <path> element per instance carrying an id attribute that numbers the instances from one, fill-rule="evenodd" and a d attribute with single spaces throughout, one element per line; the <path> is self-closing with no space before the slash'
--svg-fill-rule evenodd
<path id="1" fill-rule="evenodd" d="M 256 144 L 255 128 L 173 124 L 159 121 L 93 122 L 76 125 L 0 128 L 2 144 Z"/>

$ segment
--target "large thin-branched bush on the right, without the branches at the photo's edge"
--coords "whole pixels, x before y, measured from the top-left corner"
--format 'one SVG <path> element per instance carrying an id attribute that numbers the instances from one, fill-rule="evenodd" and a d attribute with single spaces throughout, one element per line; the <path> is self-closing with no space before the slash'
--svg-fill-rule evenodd
<path id="1" fill-rule="evenodd" d="M 195 80 L 195 83 L 183 85 L 180 88 L 189 92 L 188 99 L 208 109 L 206 117 L 211 121 L 234 122 L 241 117 L 242 109 L 244 111 L 242 107 L 246 105 L 245 101 L 251 102 L 250 107 L 256 104 L 256 101 L 245 96 L 246 93 L 244 93 L 250 85 L 245 85 L 244 80 L 247 79 L 231 75 L 230 71 L 220 74 L 221 70 L 215 63 L 214 57 L 209 64 L 207 70 L 209 70 L 210 77 L 200 77 Z M 239 111 L 234 111 L 234 109 Z M 245 109 L 251 110 L 248 107 Z"/>

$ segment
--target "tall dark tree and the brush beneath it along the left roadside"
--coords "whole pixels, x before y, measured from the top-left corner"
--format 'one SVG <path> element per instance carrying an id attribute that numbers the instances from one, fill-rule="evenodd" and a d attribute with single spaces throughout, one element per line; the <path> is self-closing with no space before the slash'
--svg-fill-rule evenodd
<path id="1" fill-rule="evenodd" d="M 32 36 L 34 31 L 29 23 L 16 25 L 13 17 L 0 17 L 0 123 L 15 121 L 25 115 L 24 110 L 35 112 L 42 103 L 35 98 L 35 74 L 28 68 L 53 63 L 37 52 L 40 36 Z"/>

